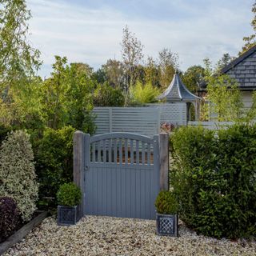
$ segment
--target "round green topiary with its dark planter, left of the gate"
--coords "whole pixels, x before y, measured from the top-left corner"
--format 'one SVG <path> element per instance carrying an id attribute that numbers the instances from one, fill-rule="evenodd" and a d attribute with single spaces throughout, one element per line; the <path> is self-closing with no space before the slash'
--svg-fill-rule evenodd
<path id="1" fill-rule="evenodd" d="M 74 183 L 65 183 L 57 192 L 58 225 L 70 226 L 78 222 L 78 204 L 81 202 L 82 193 Z"/>

